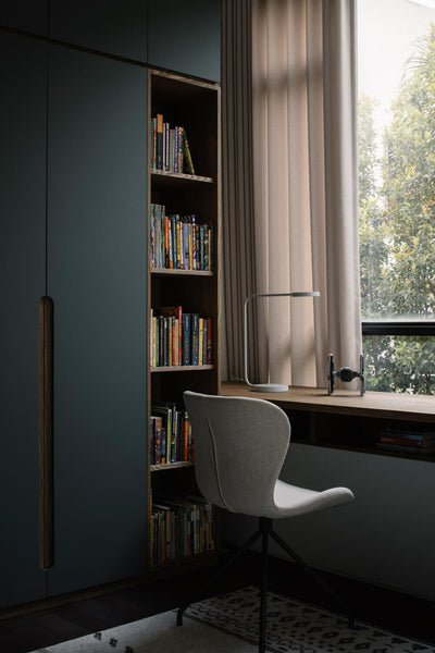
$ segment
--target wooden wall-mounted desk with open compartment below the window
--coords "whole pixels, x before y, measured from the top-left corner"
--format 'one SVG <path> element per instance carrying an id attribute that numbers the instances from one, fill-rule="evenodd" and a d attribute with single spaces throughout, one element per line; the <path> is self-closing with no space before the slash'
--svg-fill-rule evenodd
<path id="1" fill-rule="evenodd" d="M 262 398 L 289 416 L 296 442 L 394 455 L 435 463 L 435 454 L 399 454 L 375 448 L 381 430 L 435 430 L 435 397 L 395 393 L 290 387 L 288 392 L 254 392 L 245 383 L 222 383 L 220 394 Z"/>

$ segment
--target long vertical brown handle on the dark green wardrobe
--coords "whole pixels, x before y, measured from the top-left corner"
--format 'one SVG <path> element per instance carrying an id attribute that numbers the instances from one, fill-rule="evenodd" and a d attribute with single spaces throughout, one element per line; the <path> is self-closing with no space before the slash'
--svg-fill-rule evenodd
<path id="1" fill-rule="evenodd" d="M 53 301 L 39 299 L 38 316 L 39 403 L 39 565 L 54 562 L 53 507 Z"/>

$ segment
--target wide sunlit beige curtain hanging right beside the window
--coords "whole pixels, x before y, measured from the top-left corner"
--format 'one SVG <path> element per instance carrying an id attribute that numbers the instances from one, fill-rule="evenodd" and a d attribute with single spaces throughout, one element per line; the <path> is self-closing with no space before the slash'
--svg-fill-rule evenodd
<path id="1" fill-rule="evenodd" d="M 252 143 L 252 183 L 240 190 L 251 192 L 252 204 L 248 214 L 224 212 L 224 221 L 229 218 L 236 239 L 235 229 L 249 222 L 243 250 L 252 276 L 241 286 L 228 261 L 225 291 L 235 284 L 241 295 L 250 286 L 321 292 L 320 298 L 260 300 L 250 334 L 256 381 L 325 386 L 330 352 L 336 367 L 359 365 L 353 9 L 353 0 L 251 3 L 252 95 L 239 101 L 252 107 L 252 123 L 243 126 L 243 140 Z M 228 148 L 224 163 L 231 159 Z M 225 297 L 228 322 L 228 310 L 240 315 L 244 297 L 236 304 Z M 233 355 L 228 347 L 228 360 Z M 237 362 L 231 375 L 240 372 Z"/>

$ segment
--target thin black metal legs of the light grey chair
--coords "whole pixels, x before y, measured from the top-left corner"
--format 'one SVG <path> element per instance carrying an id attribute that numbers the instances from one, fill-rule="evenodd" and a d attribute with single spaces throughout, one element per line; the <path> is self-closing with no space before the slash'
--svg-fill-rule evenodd
<path id="1" fill-rule="evenodd" d="M 334 592 L 334 590 L 311 568 L 307 565 L 307 563 L 273 530 L 272 519 L 266 517 L 259 518 L 259 528 L 254 533 L 240 546 L 233 555 L 225 560 L 217 570 L 211 576 L 211 578 L 207 581 L 204 586 L 202 586 L 199 595 L 195 599 L 192 597 L 188 602 L 184 603 L 177 611 L 177 626 L 183 626 L 183 614 L 187 609 L 187 607 L 201 599 L 207 589 L 212 586 L 212 583 L 220 577 L 222 574 L 228 569 L 240 556 L 243 553 L 248 551 L 252 544 L 261 538 L 261 558 L 262 558 L 262 569 L 261 569 L 261 587 L 260 587 L 260 628 L 259 628 L 259 653 L 265 652 L 265 634 L 266 634 L 266 595 L 268 595 L 268 558 L 269 558 L 269 539 L 272 538 L 276 544 L 288 555 L 290 556 L 298 565 L 302 567 L 302 569 L 311 576 L 322 588 L 323 590 L 334 600 L 337 607 L 340 608 L 340 612 L 344 612 L 349 621 L 349 628 L 353 628 L 355 618 L 350 613 L 348 606 L 341 601 L 341 599 Z"/>

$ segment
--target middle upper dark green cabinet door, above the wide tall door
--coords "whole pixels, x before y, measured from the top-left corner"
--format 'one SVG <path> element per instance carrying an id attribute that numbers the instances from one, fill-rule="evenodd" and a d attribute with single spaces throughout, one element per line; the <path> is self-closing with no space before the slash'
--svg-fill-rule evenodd
<path id="1" fill-rule="evenodd" d="M 50 0 L 50 36 L 145 62 L 147 0 Z"/>

